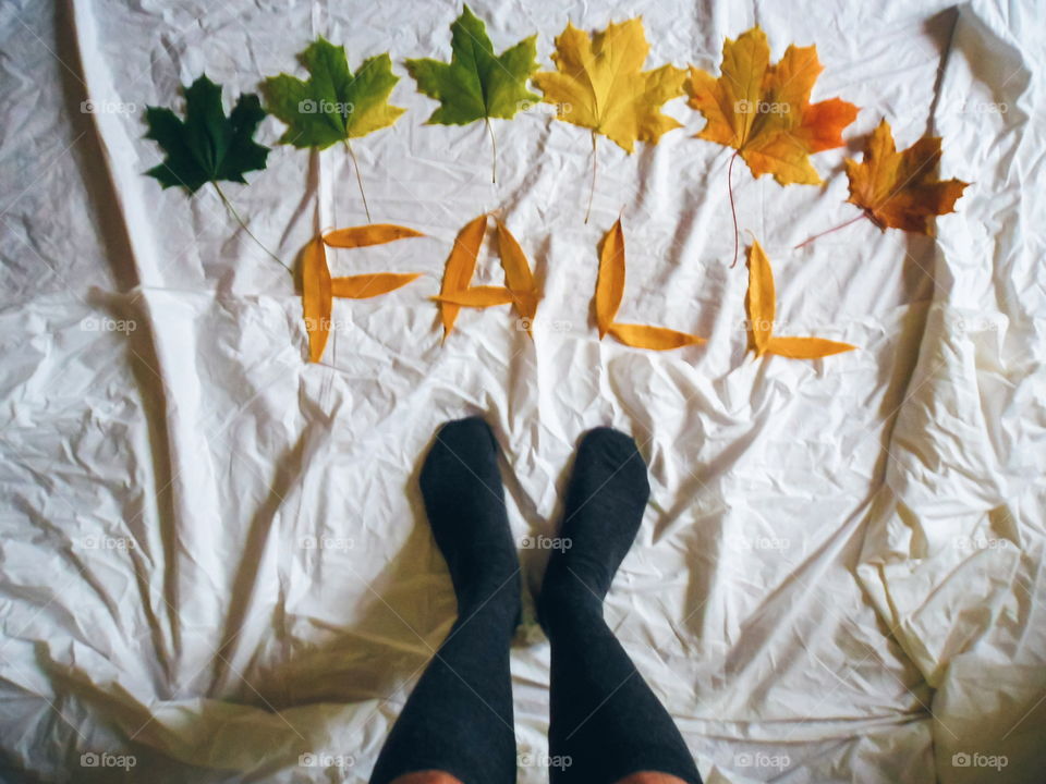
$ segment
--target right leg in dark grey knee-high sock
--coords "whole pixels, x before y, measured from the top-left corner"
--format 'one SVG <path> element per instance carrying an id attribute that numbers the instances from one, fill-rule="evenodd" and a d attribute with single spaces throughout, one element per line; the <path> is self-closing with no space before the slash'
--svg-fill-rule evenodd
<path id="1" fill-rule="evenodd" d="M 552 784 L 700 784 L 672 718 L 603 618 L 603 600 L 649 498 L 646 464 L 622 432 L 577 449 L 559 536 L 538 598 L 551 641 Z M 565 544 L 569 541 L 569 547 Z"/>

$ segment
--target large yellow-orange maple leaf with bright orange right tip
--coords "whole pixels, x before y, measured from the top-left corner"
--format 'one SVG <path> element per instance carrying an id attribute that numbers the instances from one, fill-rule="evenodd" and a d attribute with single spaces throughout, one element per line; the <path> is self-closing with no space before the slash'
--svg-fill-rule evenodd
<path id="1" fill-rule="evenodd" d="M 735 149 L 756 177 L 771 173 L 781 185 L 819 184 L 808 156 L 841 147 L 858 107 L 839 98 L 810 102 L 824 70 L 817 47 L 790 46 L 770 65 L 766 34 L 756 26 L 726 39 L 720 70 L 716 78 L 690 68 L 688 103 L 707 120 L 697 137 Z"/>

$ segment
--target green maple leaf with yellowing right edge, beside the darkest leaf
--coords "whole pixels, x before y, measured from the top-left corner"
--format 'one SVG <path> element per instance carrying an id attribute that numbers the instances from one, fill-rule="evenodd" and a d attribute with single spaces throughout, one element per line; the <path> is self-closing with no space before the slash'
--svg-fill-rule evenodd
<path id="1" fill-rule="evenodd" d="M 388 102 L 400 81 L 388 52 L 364 60 L 355 74 L 345 48 L 323 36 L 299 57 L 307 79 L 283 73 L 262 85 L 268 110 L 288 125 L 281 144 L 326 149 L 391 125 L 406 111 Z"/>

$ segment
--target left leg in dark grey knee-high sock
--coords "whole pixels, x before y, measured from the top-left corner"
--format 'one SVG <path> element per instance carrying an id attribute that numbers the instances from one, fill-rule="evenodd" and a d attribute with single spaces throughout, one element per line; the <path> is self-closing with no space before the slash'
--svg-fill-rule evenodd
<path id="1" fill-rule="evenodd" d="M 497 442 L 481 418 L 437 431 L 421 486 L 458 620 L 389 733 L 370 784 L 512 784 L 509 645 L 519 622 L 520 564 Z"/>

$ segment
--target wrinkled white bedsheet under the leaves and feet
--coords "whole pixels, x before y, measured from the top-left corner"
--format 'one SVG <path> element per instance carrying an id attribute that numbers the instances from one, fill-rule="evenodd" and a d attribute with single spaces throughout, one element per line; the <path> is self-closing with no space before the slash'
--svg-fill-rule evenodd
<path id="1" fill-rule="evenodd" d="M 492 186 L 482 123 L 423 126 L 435 103 L 402 64 L 449 57 L 457 3 L 5 3 L 0 777 L 365 782 L 453 620 L 418 461 L 439 422 L 482 413 L 521 540 L 554 532 L 586 429 L 641 444 L 653 500 L 607 616 L 709 783 L 1041 782 L 1041 9 L 472 8 L 498 50 L 537 32 L 546 69 L 568 20 L 642 14 L 649 64 L 713 72 L 754 23 L 775 60 L 816 44 L 815 99 L 862 107 L 850 148 L 814 157 L 823 188 L 738 167 L 739 220 L 774 264 L 784 329 L 861 348 L 745 355 L 729 154 L 692 138 L 704 121 L 681 99 L 667 110 L 685 130 L 656 147 L 600 145 L 587 225 L 588 134 L 547 113 L 496 123 Z M 204 71 L 227 102 L 302 74 L 317 34 L 353 66 L 391 51 L 409 112 L 356 149 L 375 218 L 427 237 L 332 254 L 336 274 L 425 278 L 336 302 L 309 366 L 289 277 L 212 193 L 142 175 L 160 159 L 142 112 Z M 973 183 L 958 215 L 936 241 L 862 222 L 792 249 L 854 215 L 842 159 L 884 115 L 899 147 L 944 136 L 944 176 Z M 259 137 L 280 132 L 269 119 Z M 269 161 L 227 192 L 284 258 L 364 222 L 342 151 Z M 622 319 L 707 346 L 596 340 L 595 247 L 622 207 Z M 501 307 L 464 311 L 441 345 L 427 297 L 457 231 L 496 208 L 544 281 L 535 340 Z M 479 269 L 499 281 L 489 250 Z M 522 555 L 535 586 L 547 552 Z M 548 645 L 530 609 L 512 670 L 531 784 L 546 780 Z"/>

